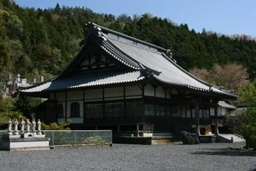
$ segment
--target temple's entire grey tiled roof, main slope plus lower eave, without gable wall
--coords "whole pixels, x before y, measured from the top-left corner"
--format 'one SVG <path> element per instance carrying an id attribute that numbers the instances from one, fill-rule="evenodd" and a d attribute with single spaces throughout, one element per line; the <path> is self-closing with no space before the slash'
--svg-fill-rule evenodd
<path id="1" fill-rule="evenodd" d="M 97 26 L 94 23 L 89 23 L 86 30 L 87 33 L 81 45 L 86 45 L 86 40 L 91 35 L 97 40 L 102 50 L 105 50 L 106 53 L 122 64 L 129 66 L 135 72 L 111 73 L 110 77 L 106 76 L 105 73 L 103 73 L 104 75 L 102 73 L 83 75 L 83 77 L 80 75 L 68 78 L 61 77 L 61 79 L 57 78 L 24 92 L 124 83 L 142 80 L 144 77 L 154 77 L 154 79 L 169 85 L 182 86 L 196 91 L 208 91 L 214 94 L 224 94 L 236 98 L 236 95 L 231 91 L 223 91 L 221 88 L 214 87 L 182 69 L 172 59 L 169 50 L 108 28 Z"/>

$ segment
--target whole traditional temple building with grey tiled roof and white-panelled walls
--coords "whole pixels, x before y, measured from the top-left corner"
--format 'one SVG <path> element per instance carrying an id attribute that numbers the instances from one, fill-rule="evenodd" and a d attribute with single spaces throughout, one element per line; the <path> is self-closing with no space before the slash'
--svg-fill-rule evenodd
<path id="1" fill-rule="evenodd" d="M 172 53 L 88 23 L 83 47 L 59 76 L 20 94 L 48 98 L 45 123 L 70 120 L 73 129 L 113 132 L 217 132 L 219 101 L 236 99 L 189 74 Z M 212 123 L 215 125 L 212 126 Z M 214 130 L 213 130 L 214 129 Z"/>

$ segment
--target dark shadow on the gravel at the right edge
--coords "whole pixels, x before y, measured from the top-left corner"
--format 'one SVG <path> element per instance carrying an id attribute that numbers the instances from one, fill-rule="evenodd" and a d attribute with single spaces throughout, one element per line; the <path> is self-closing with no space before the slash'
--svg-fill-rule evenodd
<path id="1" fill-rule="evenodd" d="M 229 150 L 226 148 L 207 148 L 206 151 L 197 151 L 192 154 L 217 155 L 217 156 L 256 156 L 255 151 Z M 256 169 L 254 170 L 256 171 Z"/>

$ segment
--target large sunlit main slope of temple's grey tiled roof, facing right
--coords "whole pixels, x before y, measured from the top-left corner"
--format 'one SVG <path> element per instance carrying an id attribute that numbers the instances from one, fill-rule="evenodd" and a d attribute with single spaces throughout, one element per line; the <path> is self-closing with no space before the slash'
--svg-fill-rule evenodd
<path id="1" fill-rule="evenodd" d="M 104 37 L 101 45 L 102 49 L 133 69 L 138 69 L 142 64 L 147 69 L 159 72 L 159 75 L 153 75 L 153 77 L 163 83 L 185 86 L 197 91 L 212 91 L 217 94 L 236 96 L 194 77 L 178 66 L 171 56 L 167 56 L 167 50 L 162 47 L 143 41 L 137 43 L 138 39 L 132 39 L 132 37 L 121 34 L 116 36 L 115 31 L 112 34 L 108 32 L 110 31 L 108 28 L 99 28 L 102 29 L 101 35 Z"/>

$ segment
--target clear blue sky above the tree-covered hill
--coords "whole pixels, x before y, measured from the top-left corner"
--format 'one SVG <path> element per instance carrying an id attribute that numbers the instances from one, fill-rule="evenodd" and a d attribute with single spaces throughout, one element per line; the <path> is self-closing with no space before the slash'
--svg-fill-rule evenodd
<path id="1" fill-rule="evenodd" d="M 146 12 L 169 18 L 180 25 L 187 23 L 195 31 L 222 34 L 247 34 L 256 37 L 255 0 L 15 0 L 20 7 L 45 9 L 56 7 L 88 7 L 94 12 L 115 16 L 143 15 Z"/>

